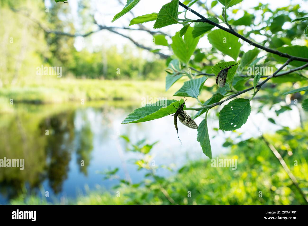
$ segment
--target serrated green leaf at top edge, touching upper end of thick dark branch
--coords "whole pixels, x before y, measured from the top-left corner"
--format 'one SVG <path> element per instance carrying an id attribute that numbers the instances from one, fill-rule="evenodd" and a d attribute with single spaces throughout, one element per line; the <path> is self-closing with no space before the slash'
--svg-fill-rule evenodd
<path id="1" fill-rule="evenodd" d="M 156 29 L 171 24 L 177 24 L 179 22 L 178 11 L 179 11 L 179 0 L 172 0 L 172 2 L 165 4 L 160 9 L 153 28 Z"/>

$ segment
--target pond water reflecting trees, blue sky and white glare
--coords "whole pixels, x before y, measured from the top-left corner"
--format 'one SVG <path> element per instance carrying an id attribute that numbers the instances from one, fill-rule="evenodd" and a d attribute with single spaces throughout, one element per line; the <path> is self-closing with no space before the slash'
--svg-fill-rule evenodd
<path id="1" fill-rule="evenodd" d="M 170 116 L 144 123 L 120 124 L 138 107 L 140 103 L 122 101 L 86 105 L 14 103 L 13 113 L 0 114 L 0 158 L 25 159 L 25 168 L 0 168 L 0 204 L 7 204 L 22 193 L 45 196 L 48 191 L 47 200 L 59 203 L 63 198 L 73 199 L 85 194 L 88 189 L 109 190 L 118 182 L 103 180 L 101 172 L 116 167 L 121 178 L 129 177 L 133 183 L 138 183 L 146 172 L 137 171 L 130 161 L 140 156 L 126 151 L 126 142 L 119 138 L 122 134 L 132 142 L 159 141 L 152 149 L 156 165 L 172 165 L 175 169 L 174 172 L 159 170 L 162 176 L 172 175 L 189 159 L 207 158 L 196 141 L 197 130 L 179 123 L 181 146 Z M 194 112 L 188 113 L 193 115 Z M 268 111 L 266 117 L 273 117 L 273 112 Z M 252 112 L 237 132 L 243 133 L 242 139 L 247 139 L 257 137 L 260 131 L 274 132 L 280 128 L 266 117 Z M 198 117 L 196 123 L 199 125 L 203 118 Z M 278 118 L 281 124 L 299 125 L 296 107 Z M 213 157 L 228 151 L 222 146 L 226 137 L 239 139 L 237 133 L 214 131 L 218 121 L 213 120 L 212 114 L 208 116 L 208 127 Z M 82 160 L 84 166 L 81 166 Z"/>

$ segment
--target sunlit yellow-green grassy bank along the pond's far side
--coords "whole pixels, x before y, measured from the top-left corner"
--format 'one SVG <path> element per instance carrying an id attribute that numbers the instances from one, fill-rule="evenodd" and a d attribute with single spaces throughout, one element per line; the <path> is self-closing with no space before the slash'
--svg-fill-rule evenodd
<path id="1" fill-rule="evenodd" d="M 180 89 L 180 83 L 165 91 L 165 81 L 49 79 L 29 80 L 19 86 L 0 89 L 1 99 L 35 104 L 91 100 L 140 100 L 141 97 L 167 97 Z"/>

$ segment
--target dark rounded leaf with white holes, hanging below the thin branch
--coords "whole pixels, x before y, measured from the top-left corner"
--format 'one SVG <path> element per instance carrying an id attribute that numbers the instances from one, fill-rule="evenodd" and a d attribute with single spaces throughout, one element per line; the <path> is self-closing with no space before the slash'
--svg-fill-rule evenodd
<path id="1" fill-rule="evenodd" d="M 241 128 L 251 112 L 248 99 L 238 98 L 230 101 L 219 113 L 219 129 L 231 131 Z"/>

